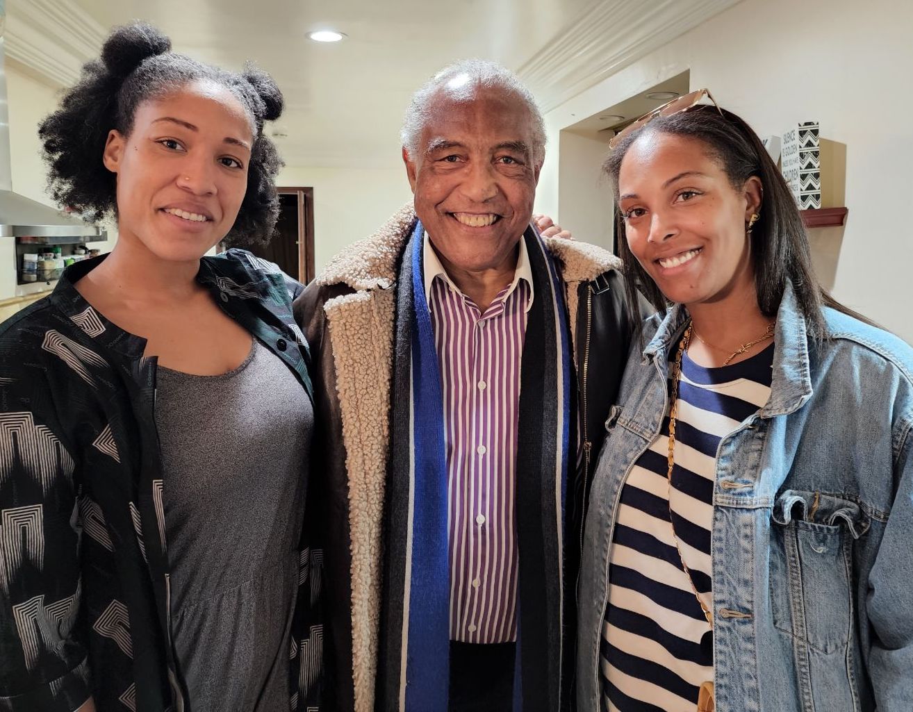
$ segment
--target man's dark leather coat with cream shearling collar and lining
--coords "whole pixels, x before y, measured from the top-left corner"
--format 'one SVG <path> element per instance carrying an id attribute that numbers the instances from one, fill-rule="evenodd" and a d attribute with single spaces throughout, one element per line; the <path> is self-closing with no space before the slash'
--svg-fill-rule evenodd
<path id="1" fill-rule="evenodd" d="M 322 708 L 374 709 L 383 591 L 384 489 L 391 439 L 396 276 L 412 205 L 334 257 L 295 302 L 310 344 L 317 432 L 306 527 L 322 550 Z M 577 372 L 581 463 L 568 487 L 565 581 L 577 580 L 584 502 L 630 343 L 620 263 L 601 247 L 547 238 L 566 285 Z M 590 454 L 593 453 L 593 457 Z M 572 606 L 574 596 L 566 595 Z M 575 615 L 565 614 L 565 641 Z M 572 644 L 572 643 L 570 643 Z M 572 660 L 572 650 L 565 654 Z M 542 651 L 558 654 L 558 651 Z M 562 687 L 571 684 L 569 671 Z"/>

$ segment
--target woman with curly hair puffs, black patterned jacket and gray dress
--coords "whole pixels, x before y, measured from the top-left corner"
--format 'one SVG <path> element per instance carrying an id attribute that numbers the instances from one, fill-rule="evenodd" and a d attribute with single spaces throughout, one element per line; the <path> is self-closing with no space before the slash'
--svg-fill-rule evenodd
<path id="1" fill-rule="evenodd" d="M 263 72 L 136 24 L 41 124 L 55 199 L 119 239 L 0 326 L 3 709 L 319 696 L 301 286 L 244 250 L 205 257 L 271 235 L 281 110 Z"/>

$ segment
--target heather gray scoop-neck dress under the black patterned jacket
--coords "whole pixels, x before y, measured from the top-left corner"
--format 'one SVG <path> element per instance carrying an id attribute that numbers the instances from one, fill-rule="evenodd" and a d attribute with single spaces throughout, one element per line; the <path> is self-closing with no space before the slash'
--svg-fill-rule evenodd
<path id="1" fill-rule="evenodd" d="M 313 410 L 254 340 L 218 376 L 159 367 L 171 624 L 191 712 L 289 709 Z"/>

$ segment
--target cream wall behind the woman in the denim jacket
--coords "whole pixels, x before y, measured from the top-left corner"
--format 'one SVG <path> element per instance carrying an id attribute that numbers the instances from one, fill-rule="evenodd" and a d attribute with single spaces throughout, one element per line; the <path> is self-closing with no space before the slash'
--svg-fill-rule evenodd
<path id="1" fill-rule="evenodd" d="M 849 215 L 843 229 L 811 232 L 817 267 L 836 298 L 913 341 L 901 296 L 913 264 L 911 28 L 908 0 L 744 0 L 549 112 L 536 209 L 574 230 L 555 155 L 562 129 L 690 69 L 692 89 L 710 89 L 761 136 L 816 119 L 823 138 L 846 144 Z"/>

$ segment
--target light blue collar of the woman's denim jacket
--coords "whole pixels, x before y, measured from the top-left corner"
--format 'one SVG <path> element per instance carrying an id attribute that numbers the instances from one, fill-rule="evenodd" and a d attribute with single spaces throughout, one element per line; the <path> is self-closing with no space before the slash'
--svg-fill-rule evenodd
<path id="1" fill-rule="evenodd" d="M 677 344 L 689 319 L 683 305 L 673 305 L 646 345 L 645 360 L 666 360 L 670 347 Z M 794 413 L 812 397 L 808 329 L 789 281 L 777 310 L 772 369 L 771 397 L 761 408 L 762 418 Z"/>

